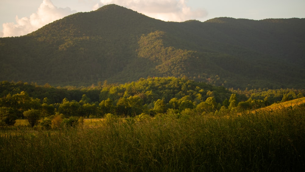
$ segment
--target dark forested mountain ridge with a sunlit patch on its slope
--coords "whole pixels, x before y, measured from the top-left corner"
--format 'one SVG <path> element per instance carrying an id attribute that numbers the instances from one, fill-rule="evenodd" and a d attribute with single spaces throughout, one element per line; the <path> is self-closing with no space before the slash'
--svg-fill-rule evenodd
<path id="1" fill-rule="evenodd" d="M 164 22 L 118 5 L 0 38 L 0 80 L 91 85 L 187 76 L 234 88 L 304 88 L 305 19 Z"/>

